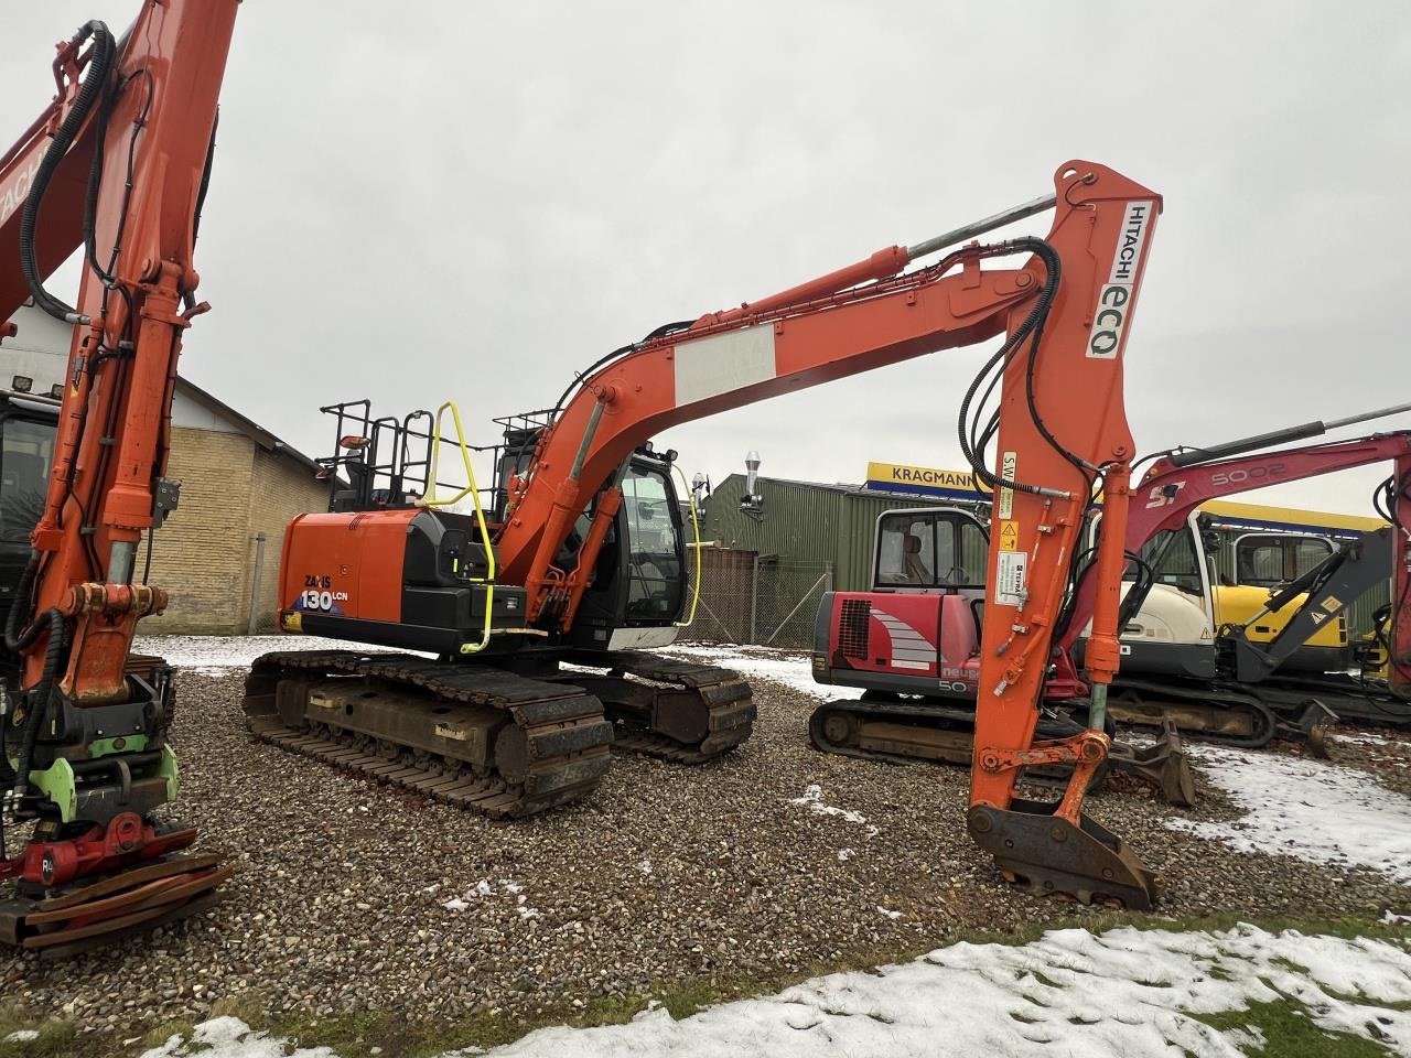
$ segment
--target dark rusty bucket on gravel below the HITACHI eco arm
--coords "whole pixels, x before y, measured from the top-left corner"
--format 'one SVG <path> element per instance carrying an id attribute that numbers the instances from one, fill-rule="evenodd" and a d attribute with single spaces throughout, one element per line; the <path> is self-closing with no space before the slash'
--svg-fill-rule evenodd
<path id="1" fill-rule="evenodd" d="M 1054 815 L 1058 803 L 1013 800 L 1007 811 L 976 805 L 967 817 L 971 838 L 995 856 L 1005 876 L 1038 894 L 1070 893 L 1081 903 L 1118 903 L 1150 910 L 1161 896 L 1154 872 L 1105 827 Z"/>

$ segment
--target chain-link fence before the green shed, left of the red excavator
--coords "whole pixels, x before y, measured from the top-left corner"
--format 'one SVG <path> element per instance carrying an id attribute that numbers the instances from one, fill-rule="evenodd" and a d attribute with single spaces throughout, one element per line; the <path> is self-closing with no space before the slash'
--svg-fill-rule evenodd
<path id="1" fill-rule="evenodd" d="M 694 561 L 689 567 L 694 576 Z M 706 547 L 696 619 L 683 638 L 809 649 L 818 602 L 831 590 L 832 563 Z"/>

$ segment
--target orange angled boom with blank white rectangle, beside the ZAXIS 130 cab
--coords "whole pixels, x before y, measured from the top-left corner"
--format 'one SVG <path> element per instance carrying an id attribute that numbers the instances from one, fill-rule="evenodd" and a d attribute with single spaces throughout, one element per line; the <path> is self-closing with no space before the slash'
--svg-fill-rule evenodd
<path id="1" fill-rule="evenodd" d="M 1060 181 L 1054 197 L 912 247 L 888 247 L 770 298 L 663 329 L 586 374 L 571 398 L 555 409 L 526 471 L 511 482 L 495 540 L 502 578 L 528 588 L 529 618 L 571 625 L 595 547 L 621 502 L 618 475 L 634 449 L 663 429 L 1019 327 L 1043 293 L 1044 267 L 1037 258 L 1017 269 L 982 268 L 981 262 L 1031 253 L 1030 243 L 1040 240 L 971 243 L 938 264 L 903 269 L 971 234 L 1055 203 L 1053 231 L 1088 226 L 1101 206 L 1070 185 L 1082 175 L 1095 182 L 1096 174 L 1110 171 L 1086 162 L 1064 171 L 1077 174 L 1078 168 L 1082 174 Z M 1079 188 L 1086 186 L 1079 181 Z M 1084 257 L 1070 268 L 1091 276 L 1091 250 L 1075 245 L 1072 251 Z M 1091 308 L 1084 319 L 1062 326 L 1085 333 Z M 1113 312 L 1120 319 L 1122 312 Z M 560 568 L 556 557 L 576 519 L 590 508 L 595 532 L 567 563 L 571 568 Z"/>

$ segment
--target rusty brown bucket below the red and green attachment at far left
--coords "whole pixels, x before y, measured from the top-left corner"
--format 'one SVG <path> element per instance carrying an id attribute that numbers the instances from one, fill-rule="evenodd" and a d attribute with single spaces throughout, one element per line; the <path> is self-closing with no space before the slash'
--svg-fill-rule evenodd
<path id="1" fill-rule="evenodd" d="M 220 856 L 172 856 L 40 896 L 0 901 L 0 941 L 68 958 L 205 911 L 234 872 Z"/>

